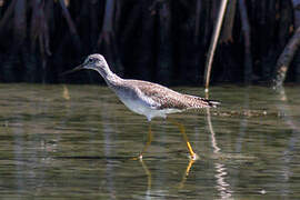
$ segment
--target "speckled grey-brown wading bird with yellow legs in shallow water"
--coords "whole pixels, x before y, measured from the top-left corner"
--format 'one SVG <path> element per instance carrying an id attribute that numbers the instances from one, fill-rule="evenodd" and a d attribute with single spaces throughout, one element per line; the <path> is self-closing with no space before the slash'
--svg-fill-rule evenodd
<path id="1" fill-rule="evenodd" d="M 62 74 L 81 69 L 98 71 L 103 77 L 109 88 L 116 92 L 126 107 L 138 114 L 146 116 L 148 121 L 151 121 L 151 119 L 156 117 L 167 118 L 167 114 L 169 113 L 182 112 L 187 109 L 211 108 L 217 107 L 220 103 L 196 96 L 179 93 L 157 83 L 122 79 L 109 69 L 104 57 L 97 53 L 90 54 L 82 64 Z M 190 158 L 196 159 L 197 154 L 193 152 L 190 142 L 188 141 L 183 127 L 180 123 L 177 123 L 177 126 L 183 133 Z M 150 127 L 148 136 L 149 141 L 147 142 L 146 148 L 150 144 L 152 138 Z M 146 148 L 143 148 L 142 152 Z M 140 153 L 140 158 L 142 158 L 142 152 Z"/>

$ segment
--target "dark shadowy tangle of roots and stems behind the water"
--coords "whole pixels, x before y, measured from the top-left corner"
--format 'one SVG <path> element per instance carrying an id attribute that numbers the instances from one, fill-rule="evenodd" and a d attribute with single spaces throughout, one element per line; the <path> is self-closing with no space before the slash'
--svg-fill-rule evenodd
<path id="1" fill-rule="evenodd" d="M 59 74 L 93 52 L 123 78 L 202 84 L 220 0 L 0 0 L 0 81 L 94 83 Z M 268 82 L 299 24 L 296 0 L 230 0 L 213 82 Z M 298 23 L 298 24 L 297 24 Z M 299 57 L 288 81 L 300 82 Z"/>

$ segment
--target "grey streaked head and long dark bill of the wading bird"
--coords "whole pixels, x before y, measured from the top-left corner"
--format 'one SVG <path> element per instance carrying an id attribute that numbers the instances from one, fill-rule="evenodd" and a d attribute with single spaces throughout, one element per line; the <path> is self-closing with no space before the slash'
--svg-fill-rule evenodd
<path id="1" fill-rule="evenodd" d="M 104 59 L 104 57 L 102 54 L 90 54 L 83 63 L 81 63 L 80 66 L 73 68 L 72 70 L 66 71 L 64 73 L 62 73 L 62 76 L 78 71 L 78 70 L 82 70 L 82 69 L 91 69 L 91 70 L 96 70 L 98 72 L 106 73 L 107 71 L 109 71 L 109 67 L 108 63 Z"/>

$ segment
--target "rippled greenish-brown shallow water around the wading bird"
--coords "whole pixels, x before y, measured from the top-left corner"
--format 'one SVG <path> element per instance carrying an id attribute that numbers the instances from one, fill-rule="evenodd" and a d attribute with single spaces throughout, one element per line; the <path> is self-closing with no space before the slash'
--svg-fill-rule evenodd
<path id="1" fill-rule="evenodd" d="M 219 109 L 170 116 L 199 160 L 189 163 L 178 127 L 154 119 L 141 162 L 131 158 L 148 122 L 107 87 L 0 84 L 0 199 L 299 199 L 299 87 L 210 96 Z"/>

